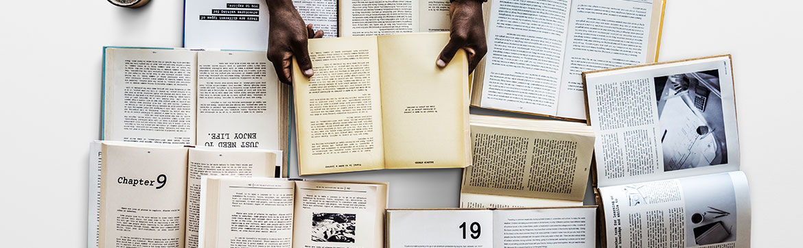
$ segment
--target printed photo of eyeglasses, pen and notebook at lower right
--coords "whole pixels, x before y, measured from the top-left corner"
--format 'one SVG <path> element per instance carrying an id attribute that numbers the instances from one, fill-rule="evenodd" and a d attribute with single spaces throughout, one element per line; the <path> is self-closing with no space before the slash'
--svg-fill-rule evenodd
<path id="1" fill-rule="evenodd" d="M 736 241 L 736 193 L 727 173 L 680 179 L 686 201 L 686 246 Z"/>

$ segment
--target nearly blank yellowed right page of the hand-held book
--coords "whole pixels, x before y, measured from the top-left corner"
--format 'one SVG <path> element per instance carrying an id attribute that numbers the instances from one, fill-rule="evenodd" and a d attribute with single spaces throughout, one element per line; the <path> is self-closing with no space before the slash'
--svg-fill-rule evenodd
<path id="1" fill-rule="evenodd" d="M 459 168 L 470 163 L 468 70 L 461 50 L 443 69 L 434 61 L 446 32 L 380 36 L 385 167 Z"/>

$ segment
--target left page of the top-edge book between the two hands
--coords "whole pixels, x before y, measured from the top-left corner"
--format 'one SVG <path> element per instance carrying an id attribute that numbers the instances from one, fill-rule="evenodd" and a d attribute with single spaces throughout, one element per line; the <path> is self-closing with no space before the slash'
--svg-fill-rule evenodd
<path id="1" fill-rule="evenodd" d="M 418 1 L 340 0 L 340 37 L 418 32 Z"/>

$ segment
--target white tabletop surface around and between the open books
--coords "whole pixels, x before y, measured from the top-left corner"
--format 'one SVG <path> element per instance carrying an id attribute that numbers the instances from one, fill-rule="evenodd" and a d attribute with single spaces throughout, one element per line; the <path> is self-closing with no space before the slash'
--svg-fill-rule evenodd
<path id="1" fill-rule="evenodd" d="M 181 47 L 182 1 L 153 0 L 138 10 L 105 0 L 0 6 L 0 247 L 85 247 L 101 47 Z M 799 1 L 668 0 L 666 6 L 660 61 L 733 55 L 756 247 L 799 246 L 793 244 L 803 234 L 801 9 Z M 320 177 L 390 181 L 391 207 L 458 201 L 455 169 Z"/>

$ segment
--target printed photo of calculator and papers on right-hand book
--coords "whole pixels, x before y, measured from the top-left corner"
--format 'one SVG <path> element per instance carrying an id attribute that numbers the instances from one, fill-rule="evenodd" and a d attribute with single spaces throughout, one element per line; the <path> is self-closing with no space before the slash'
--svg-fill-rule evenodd
<path id="1" fill-rule="evenodd" d="M 654 79 L 663 170 L 728 164 L 719 71 Z"/>

